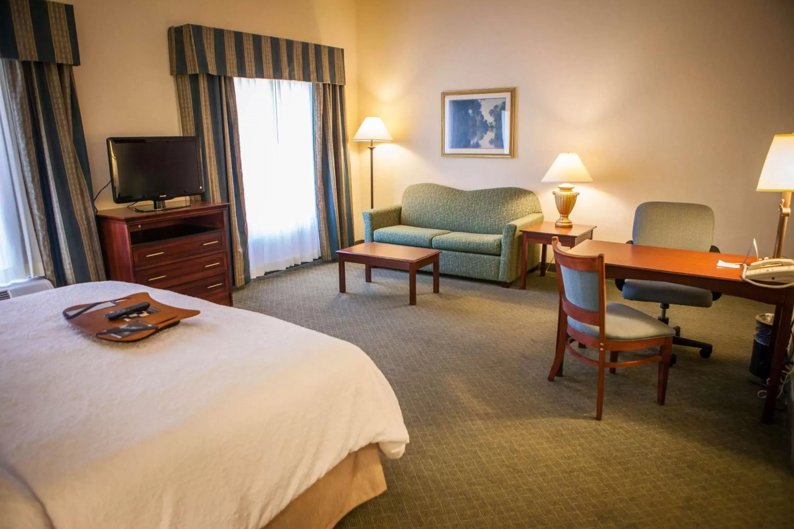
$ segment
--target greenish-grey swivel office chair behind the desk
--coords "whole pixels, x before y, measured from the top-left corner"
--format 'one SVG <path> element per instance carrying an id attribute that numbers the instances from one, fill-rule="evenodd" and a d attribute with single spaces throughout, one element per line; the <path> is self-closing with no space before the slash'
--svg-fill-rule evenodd
<path id="1" fill-rule="evenodd" d="M 628 243 L 719 253 L 719 248 L 711 244 L 713 237 L 714 212 L 707 205 L 645 202 L 634 212 L 632 240 Z M 658 320 L 664 324 L 670 322 L 667 317 L 670 305 L 708 308 L 722 296 L 719 292 L 660 281 L 616 279 L 615 285 L 622 291 L 624 299 L 660 304 Z M 711 343 L 682 337 L 681 328 L 677 325 L 673 329 L 676 331 L 674 344 L 699 347 L 702 358 L 711 356 Z M 675 362 L 676 355 L 673 355 L 671 365 Z"/>

